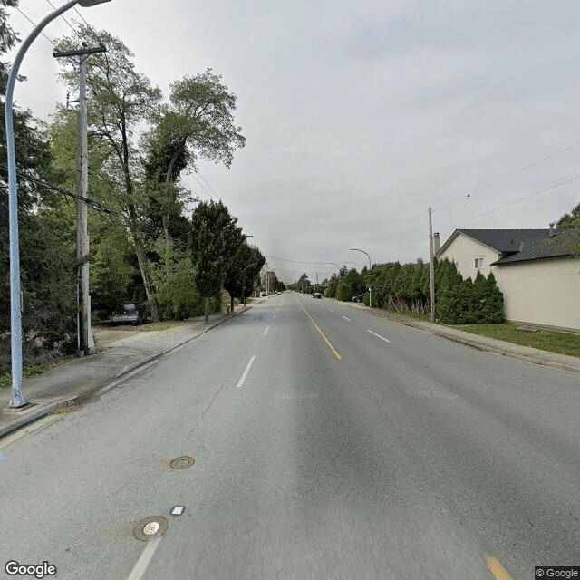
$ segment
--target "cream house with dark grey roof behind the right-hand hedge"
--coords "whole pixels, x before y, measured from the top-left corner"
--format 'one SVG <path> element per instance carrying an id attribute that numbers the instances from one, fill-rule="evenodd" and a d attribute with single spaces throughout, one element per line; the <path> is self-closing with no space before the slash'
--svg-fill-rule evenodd
<path id="1" fill-rule="evenodd" d="M 507 321 L 580 331 L 580 229 L 456 229 L 436 252 L 472 280 L 493 272 Z M 577 244 L 577 242 L 576 242 Z"/>

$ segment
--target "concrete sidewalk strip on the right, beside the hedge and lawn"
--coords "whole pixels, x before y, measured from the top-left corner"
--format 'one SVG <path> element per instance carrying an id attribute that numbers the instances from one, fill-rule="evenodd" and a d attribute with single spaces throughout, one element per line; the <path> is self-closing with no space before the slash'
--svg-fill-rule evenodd
<path id="1" fill-rule="evenodd" d="M 324 300 L 333 300 L 333 298 L 324 298 Z M 541 364 L 542 366 L 556 369 L 557 371 L 580 372 L 580 357 L 549 353 L 528 346 L 506 343 L 504 341 L 498 341 L 495 338 L 488 338 L 487 336 L 466 333 L 456 328 L 449 328 L 449 326 L 444 326 L 443 324 L 432 324 L 420 320 L 405 319 L 403 316 L 394 316 L 385 310 L 369 308 L 361 303 L 343 302 L 342 304 L 360 310 L 365 314 L 388 318 L 392 322 L 411 326 L 411 328 L 416 328 L 424 333 L 441 336 L 456 343 L 467 344 L 479 351 L 486 351 L 487 353 L 497 354 L 498 356 L 507 356 L 518 361 Z"/>

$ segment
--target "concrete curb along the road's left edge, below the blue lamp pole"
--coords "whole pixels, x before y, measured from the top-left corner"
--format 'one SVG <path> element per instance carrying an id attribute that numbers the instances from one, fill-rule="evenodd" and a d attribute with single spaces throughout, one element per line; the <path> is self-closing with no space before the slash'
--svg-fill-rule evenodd
<path id="1" fill-rule="evenodd" d="M 4 427 L 0 427 L 0 439 L 2 437 L 4 437 L 5 435 L 8 435 L 9 433 L 14 432 L 15 430 L 22 429 L 26 425 L 33 423 L 35 420 L 39 420 L 39 419 L 42 419 L 43 417 L 45 417 L 46 415 L 50 415 L 50 413 L 52 413 L 54 410 L 58 409 L 58 407 L 60 407 L 64 402 L 75 401 L 82 396 L 86 396 L 88 394 L 94 394 L 95 392 L 107 390 L 107 389 L 111 388 L 112 386 L 115 386 L 114 383 L 122 382 L 123 380 L 130 378 L 129 375 L 132 376 L 134 374 L 137 374 L 138 372 L 144 370 L 145 367 L 150 366 L 150 364 L 152 362 L 155 362 L 156 360 L 160 359 L 161 357 L 168 356 L 169 354 L 175 353 L 176 351 L 178 351 L 179 349 L 182 349 L 187 344 L 196 340 L 196 338 L 198 338 L 198 336 L 201 336 L 202 334 L 208 333 L 210 330 L 213 330 L 214 328 L 220 326 L 221 324 L 225 324 L 225 323 L 229 322 L 230 320 L 233 320 L 239 314 L 244 314 L 245 312 L 247 312 L 247 310 L 249 310 L 250 308 L 253 308 L 254 305 L 255 304 L 247 304 L 247 306 L 244 307 L 244 310 L 241 310 L 238 312 L 234 311 L 232 314 L 225 316 L 222 320 L 219 320 L 218 322 L 216 322 L 214 324 L 209 324 L 208 327 L 204 328 L 202 331 L 197 333 L 195 336 L 192 336 L 191 338 L 183 341 L 183 343 L 176 344 L 175 346 L 172 346 L 171 348 L 167 349 L 166 351 L 163 351 L 163 352 L 157 353 L 157 354 L 153 354 L 153 355 L 149 356 L 148 358 L 141 360 L 140 362 L 136 362 L 135 364 L 132 364 L 130 366 L 123 368 L 122 371 L 119 372 L 111 380 L 108 380 L 108 381 L 103 382 L 102 384 L 99 384 L 96 386 L 92 386 L 91 388 L 86 389 L 85 391 L 77 392 L 73 396 L 63 397 L 62 399 L 59 399 L 59 401 L 46 403 L 40 409 L 33 411 L 33 412 L 30 412 L 30 413 L 27 413 L 24 417 L 20 417 L 20 418 L 17 418 L 17 419 L 10 421 Z"/>

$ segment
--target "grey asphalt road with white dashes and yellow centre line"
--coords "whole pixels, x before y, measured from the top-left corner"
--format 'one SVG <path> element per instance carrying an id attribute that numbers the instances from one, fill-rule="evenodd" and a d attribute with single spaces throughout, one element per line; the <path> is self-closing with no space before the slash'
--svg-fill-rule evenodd
<path id="1" fill-rule="evenodd" d="M 579 418 L 575 373 L 271 296 L 0 440 L 3 566 L 48 561 L 74 580 L 533 578 L 580 565 Z M 171 469 L 181 456 L 194 465 Z M 150 542 L 132 533 L 146 517 L 169 523 Z"/>

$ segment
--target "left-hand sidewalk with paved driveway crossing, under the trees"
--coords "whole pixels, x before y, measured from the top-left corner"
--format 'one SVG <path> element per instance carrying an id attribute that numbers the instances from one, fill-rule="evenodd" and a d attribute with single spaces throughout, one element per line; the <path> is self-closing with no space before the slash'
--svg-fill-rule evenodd
<path id="1" fill-rule="evenodd" d="M 179 324 L 164 331 L 127 332 L 127 338 L 113 343 L 105 342 L 104 346 L 99 341 L 99 333 L 95 333 L 96 354 L 74 359 L 24 380 L 22 393 L 30 404 L 12 409 L 8 407 L 11 390 L 0 391 L 0 437 L 48 415 L 66 401 L 74 401 L 112 382 L 128 378 L 162 354 L 178 350 L 199 334 L 207 333 L 261 302 L 263 300 L 256 298 L 246 307 L 237 306 L 234 314 L 213 314 L 208 326 L 204 317 L 199 316 L 189 324 Z"/>

